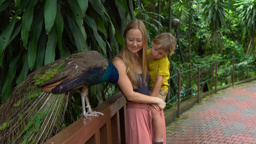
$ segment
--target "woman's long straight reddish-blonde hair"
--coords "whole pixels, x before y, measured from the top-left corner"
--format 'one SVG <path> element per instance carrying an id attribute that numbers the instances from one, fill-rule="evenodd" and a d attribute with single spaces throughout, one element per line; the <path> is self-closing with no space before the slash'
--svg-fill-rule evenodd
<path id="1" fill-rule="evenodd" d="M 120 50 L 119 54 L 123 58 L 123 62 L 126 65 L 126 74 L 128 78 L 130 79 L 132 83 L 132 87 L 134 89 L 138 89 L 138 84 L 141 87 L 142 82 L 145 82 L 146 80 L 146 74 L 148 73 L 148 56 L 147 56 L 147 48 L 148 48 L 148 38 L 147 38 L 147 30 L 146 26 L 142 22 L 142 20 L 133 20 L 128 23 L 126 26 L 124 33 L 123 33 L 123 38 L 125 41 L 126 34 L 130 29 L 139 29 L 142 32 L 143 36 L 143 47 L 142 49 L 136 54 L 138 57 L 138 60 L 140 62 L 140 66 L 142 66 L 142 79 L 138 72 L 134 70 L 134 63 L 132 63 L 132 56 L 130 55 L 128 49 L 126 46 Z M 126 41 L 125 41 L 126 42 Z M 146 84 L 146 82 L 145 82 Z"/>

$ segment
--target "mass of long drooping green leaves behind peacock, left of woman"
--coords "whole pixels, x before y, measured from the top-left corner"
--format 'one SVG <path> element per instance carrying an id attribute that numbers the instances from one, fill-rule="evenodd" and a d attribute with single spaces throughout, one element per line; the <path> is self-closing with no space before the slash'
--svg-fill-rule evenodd
<path id="1" fill-rule="evenodd" d="M 112 4 L 101 0 L 2 0 L 2 101 L 29 73 L 75 51 L 96 50 L 111 60 L 124 46 L 122 28 L 134 18 L 130 4 L 121 0 Z"/>

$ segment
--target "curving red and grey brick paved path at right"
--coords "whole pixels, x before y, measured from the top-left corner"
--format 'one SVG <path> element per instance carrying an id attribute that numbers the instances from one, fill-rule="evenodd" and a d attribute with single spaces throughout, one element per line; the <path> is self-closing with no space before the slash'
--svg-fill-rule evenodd
<path id="1" fill-rule="evenodd" d="M 168 144 L 256 144 L 256 81 L 204 98 L 166 126 Z"/>

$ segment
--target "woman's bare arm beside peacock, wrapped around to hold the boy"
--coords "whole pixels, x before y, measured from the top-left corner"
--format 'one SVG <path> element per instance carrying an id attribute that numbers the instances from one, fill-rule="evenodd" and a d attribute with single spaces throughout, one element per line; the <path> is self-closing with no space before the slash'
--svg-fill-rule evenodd
<path id="1" fill-rule="evenodd" d="M 130 79 L 126 74 L 126 66 L 120 58 L 114 58 L 112 63 L 117 68 L 119 73 L 119 80 L 117 82 L 118 86 L 122 90 L 122 93 L 126 96 L 127 100 L 139 103 L 154 103 L 157 104 L 160 109 L 165 107 L 164 100 L 133 91 Z"/>

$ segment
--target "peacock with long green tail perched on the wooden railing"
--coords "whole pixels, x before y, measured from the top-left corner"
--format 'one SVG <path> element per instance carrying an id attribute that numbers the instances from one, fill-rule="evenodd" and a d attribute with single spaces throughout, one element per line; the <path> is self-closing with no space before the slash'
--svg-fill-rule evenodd
<path id="1" fill-rule="evenodd" d="M 82 115 L 102 114 L 91 110 L 88 88 L 118 78 L 116 67 L 96 51 L 75 52 L 32 72 L 0 107 L 0 144 L 38 144 L 60 132 L 68 97 L 80 87 Z"/>

